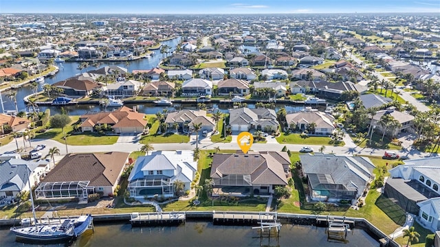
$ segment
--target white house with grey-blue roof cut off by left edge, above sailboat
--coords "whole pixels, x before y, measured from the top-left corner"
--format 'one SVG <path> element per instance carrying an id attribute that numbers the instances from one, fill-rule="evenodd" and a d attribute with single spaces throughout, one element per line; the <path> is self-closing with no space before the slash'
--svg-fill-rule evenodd
<path id="1" fill-rule="evenodd" d="M 18 193 L 29 191 L 49 172 L 50 165 L 46 160 L 25 161 L 21 158 L 10 158 L 0 161 L 0 198 L 15 198 Z M 28 181 L 30 180 L 30 181 Z"/>

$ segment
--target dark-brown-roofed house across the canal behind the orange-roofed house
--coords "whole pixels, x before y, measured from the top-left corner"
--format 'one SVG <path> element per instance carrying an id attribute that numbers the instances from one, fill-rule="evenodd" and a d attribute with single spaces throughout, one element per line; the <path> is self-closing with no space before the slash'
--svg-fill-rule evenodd
<path id="1" fill-rule="evenodd" d="M 59 89 L 63 89 L 63 93 L 67 96 L 90 96 L 101 86 L 91 80 L 78 80 L 78 78 L 68 78 L 61 82 L 53 84 Z"/>

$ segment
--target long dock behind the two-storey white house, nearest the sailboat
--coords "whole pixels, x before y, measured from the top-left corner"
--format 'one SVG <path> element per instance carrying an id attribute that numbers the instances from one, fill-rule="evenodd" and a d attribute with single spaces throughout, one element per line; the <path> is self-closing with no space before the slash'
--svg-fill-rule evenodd
<path id="1" fill-rule="evenodd" d="M 131 213 L 132 226 L 178 225 L 186 221 L 184 212 Z"/>

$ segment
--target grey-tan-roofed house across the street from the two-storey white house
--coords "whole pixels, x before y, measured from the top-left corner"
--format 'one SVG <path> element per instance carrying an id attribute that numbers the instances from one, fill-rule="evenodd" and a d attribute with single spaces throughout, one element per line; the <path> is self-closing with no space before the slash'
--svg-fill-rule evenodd
<path id="1" fill-rule="evenodd" d="M 166 115 L 165 124 L 168 130 L 175 130 L 175 124 L 180 132 L 188 132 L 192 124 L 200 124 L 200 131 L 212 132 L 214 120 L 206 116 L 206 110 L 179 110 Z"/>

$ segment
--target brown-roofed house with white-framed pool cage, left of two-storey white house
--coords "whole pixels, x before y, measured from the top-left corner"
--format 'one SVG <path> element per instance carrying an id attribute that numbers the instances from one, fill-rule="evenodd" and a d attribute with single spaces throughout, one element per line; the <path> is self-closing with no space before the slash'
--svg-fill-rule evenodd
<path id="1" fill-rule="evenodd" d="M 128 152 L 67 154 L 35 189 L 37 199 L 79 198 L 91 193 L 110 196 L 120 182 Z"/>

